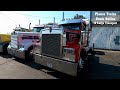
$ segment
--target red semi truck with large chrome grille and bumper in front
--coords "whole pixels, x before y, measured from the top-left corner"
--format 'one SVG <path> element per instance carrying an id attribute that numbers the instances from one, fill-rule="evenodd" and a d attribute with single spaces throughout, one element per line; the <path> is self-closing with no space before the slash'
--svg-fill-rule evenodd
<path id="1" fill-rule="evenodd" d="M 89 32 L 83 19 L 64 20 L 60 28 L 42 29 L 40 43 L 34 47 L 36 63 L 54 70 L 77 76 L 87 60 Z"/>

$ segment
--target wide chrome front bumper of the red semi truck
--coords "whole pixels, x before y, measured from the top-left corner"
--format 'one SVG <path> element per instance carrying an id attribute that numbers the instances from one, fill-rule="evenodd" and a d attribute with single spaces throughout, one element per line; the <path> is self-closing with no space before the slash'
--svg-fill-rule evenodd
<path id="1" fill-rule="evenodd" d="M 54 59 L 47 56 L 41 56 L 39 54 L 35 54 L 34 57 L 35 62 L 38 64 L 47 66 L 49 68 L 72 76 L 77 76 L 77 63 Z"/>

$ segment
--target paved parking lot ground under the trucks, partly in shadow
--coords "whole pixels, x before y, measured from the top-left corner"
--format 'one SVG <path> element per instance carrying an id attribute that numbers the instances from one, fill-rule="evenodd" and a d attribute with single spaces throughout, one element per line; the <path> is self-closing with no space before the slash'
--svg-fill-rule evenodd
<path id="1" fill-rule="evenodd" d="M 98 50 L 88 56 L 77 79 L 120 79 L 120 51 Z M 10 55 L 0 54 L 0 79 L 76 79 L 34 62 L 25 62 Z"/>

